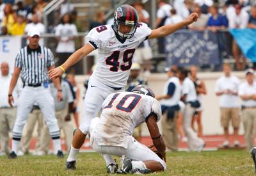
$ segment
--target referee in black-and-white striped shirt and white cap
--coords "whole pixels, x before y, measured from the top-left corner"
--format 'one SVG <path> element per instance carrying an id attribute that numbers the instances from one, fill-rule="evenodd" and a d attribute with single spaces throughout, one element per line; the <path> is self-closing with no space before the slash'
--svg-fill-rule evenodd
<path id="1" fill-rule="evenodd" d="M 45 122 L 49 127 L 49 132 L 54 144 L 54 152 L 58 157 L 63 157 L 60 143 L 60 129 L 55 117 L 54 100 L 49 88 L 48 70 L 54 68 L 54 58 L 50 49 L 40 46 L 40 32 L 31 30 L 27 37 L 29 44 L 20 49 L 15 59 L 14 73 L 10 83 L 8 101 L 13 106 L 13 88 L 21 73 L 23 88 L 17 106 L 17 117 L 13 127 L 12 153 L 9 158 L 17 157 L 17 147 L 20 143 L 22 130 L 28 119 L 28 114 L 33 108 L 33 104 L 38 104 L 44 114 Z M 60 80 L 54 79 L 54 84 L 58 90 L 58 100 L 61 100 Z"/>

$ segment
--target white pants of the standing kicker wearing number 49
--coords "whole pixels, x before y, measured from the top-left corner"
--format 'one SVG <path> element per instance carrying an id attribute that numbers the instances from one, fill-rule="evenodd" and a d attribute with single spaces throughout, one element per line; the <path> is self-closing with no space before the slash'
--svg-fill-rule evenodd
<path id="1" fill-rule="evenodd" d="M 90 132 L 91 120 L 92 118 L 95 118 L 95 116 L 98 116 L 100 108 L 102 108 L 102 103 L 108 95 L 122 91 L 124 91 L 124 88 L 121 90 L 115 90 L 105 84 L 102 84 L 100 81 L 97 81 L 93 76 L 90 77 L 88 90 L 84 97 L 83 116 L 79 126 L 79 129 L 83 134 L 88 134 Z"/>

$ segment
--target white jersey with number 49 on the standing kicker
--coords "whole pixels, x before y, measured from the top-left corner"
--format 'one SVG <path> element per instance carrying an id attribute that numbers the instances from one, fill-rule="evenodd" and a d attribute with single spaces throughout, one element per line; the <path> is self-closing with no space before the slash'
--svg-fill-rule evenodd
<path id="1" fill-rule="evenodd" d="M 139 23 L 132 38 L 122 44 L 111 25 L 93 28 L 86 42 L 99 49 L 97 65 L 92 76 L 107 86 L 122 88 L 127 84 L 135 49 L 151 34 L 147 24 Z"/>

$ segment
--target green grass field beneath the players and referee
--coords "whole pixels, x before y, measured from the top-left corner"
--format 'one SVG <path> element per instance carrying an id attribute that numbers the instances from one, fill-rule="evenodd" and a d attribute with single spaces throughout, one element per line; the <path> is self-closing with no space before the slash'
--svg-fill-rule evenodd
<path id="1" fill-rule="evenodd" d="M 107 175 L 100 154 L 79 154 L 75 171 L 65 170 L 66 158 L 67 155 L 64 159 L 56 156 L 0 157 L 0 175 Z M 252 158 L 244 150 L 172 152 L 167 154 L 166 163 L 166 172 L 151 175 L 254 175 Z"/>

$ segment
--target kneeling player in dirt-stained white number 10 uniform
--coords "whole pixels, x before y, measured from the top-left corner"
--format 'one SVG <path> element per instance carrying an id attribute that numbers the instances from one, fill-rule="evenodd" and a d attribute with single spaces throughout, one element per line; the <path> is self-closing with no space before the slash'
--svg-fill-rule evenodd
<path id="1" fill-rule="evenodd" d="M 150 173 L 166 170 L 165 145 L 157 122 L 161 106 L 152 90 L 145 85 L 136 86 L 132 92 L 111 93 L 102 104 L 100 118 L 93 118 L 90 126 L 90 143 L 101 154 L 125 156 L 121 173 Z M 152 138 L 155 152 L 132 137 L 135 127 L 145 122 Z M 113 159 L 108 161 L 114 163 Z M 116 170 L 113 170 L 116 172 Z"/>

